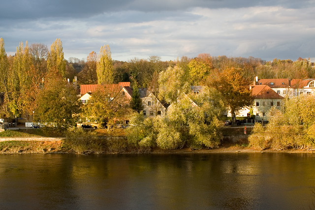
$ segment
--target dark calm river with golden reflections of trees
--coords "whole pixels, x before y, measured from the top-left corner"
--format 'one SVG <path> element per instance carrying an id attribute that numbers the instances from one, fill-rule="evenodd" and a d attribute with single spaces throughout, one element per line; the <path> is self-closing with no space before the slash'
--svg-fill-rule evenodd
<path id="1" fill-rule="evenodd" d="M 0 157 L 0 209 L 314 209 L 315 154 Z"/>

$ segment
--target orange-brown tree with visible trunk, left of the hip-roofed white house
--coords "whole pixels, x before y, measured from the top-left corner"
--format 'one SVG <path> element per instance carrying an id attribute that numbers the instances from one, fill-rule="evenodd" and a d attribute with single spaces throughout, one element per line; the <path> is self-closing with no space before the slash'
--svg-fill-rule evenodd
<path id="1" fill-rule="evenodd" d="M 207 79 L 206 84 L 221 93 L 225 106 L 232 114 L 234 124 L 235 115 L 242 108 L 249 108 L 253 103 L 252 90 L 249 85 L 251 80 L 242 76 L 242 69 L 228 67 L 222 71 L 213 72 Z"/>

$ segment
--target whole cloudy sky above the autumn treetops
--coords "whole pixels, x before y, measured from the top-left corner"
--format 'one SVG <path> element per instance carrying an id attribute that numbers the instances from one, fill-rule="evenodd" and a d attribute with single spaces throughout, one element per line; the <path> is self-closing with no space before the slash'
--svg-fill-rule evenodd
<path id="1" fill-rule="evenodd" d="M 85 59 L 109 45 L 113 60 L 159 56 L 254 57 L 315 61 L 315 0 L 6 0 L 0 37 Z"/>

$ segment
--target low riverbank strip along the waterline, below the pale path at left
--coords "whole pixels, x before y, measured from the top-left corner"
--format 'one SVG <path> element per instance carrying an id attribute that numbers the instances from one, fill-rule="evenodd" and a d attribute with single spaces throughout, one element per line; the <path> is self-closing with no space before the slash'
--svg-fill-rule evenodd
<path id="1" fill-rule="evenodd" d="M 31 153 L 73 153 L 73 154 L 117 154 L 117 153 L 153 153 L 153 154 L 176 154 L 176 153 L 314 153 L 315 150 L 286 149 L 286 150 L 255 150 L 246 142 L 222 142 L 219 148 L 191 150 L 183 148 L 178 150 L 162 150 L 159 148 L 136 148 L 128 145 L 125 138 L 103 138 L 84 141 L 85 144 L 76 143 L 70 145 L 66 139 L 60 138 L 0 138 L 0 154 L 31 154 Z"/>

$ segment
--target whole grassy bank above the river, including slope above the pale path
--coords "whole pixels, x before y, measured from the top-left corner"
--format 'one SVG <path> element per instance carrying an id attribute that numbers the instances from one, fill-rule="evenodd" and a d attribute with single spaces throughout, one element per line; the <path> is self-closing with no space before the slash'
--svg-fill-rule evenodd
<path id="1" fill-rule="evenodd" d="M 179 150 L 162 150 L 155 148 L 136 147 L 128 143 L 126 129 L 73 129 L 67 133 L 56 133 L 41 129 L 7 130 L 0 133 L 0 137 L 53 137 L 63 135 L 63 140 L 58 141 L 6 141 L 0 142 L 0 154 L 17 153 L 200 153 L 200 152 L 260 152 L 249 147 L 247 129 L 244 135 L 244 127 L 222 128 L 223 139 L 219 148 L 191 150 L 182 148 Z M 275 150 L 267 150 L 275 151 Z M 286 152 L 313 152 L 313 150 L 281 150 Z"/>

